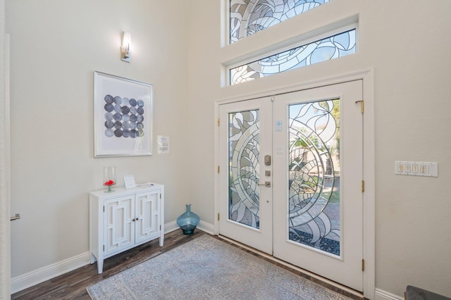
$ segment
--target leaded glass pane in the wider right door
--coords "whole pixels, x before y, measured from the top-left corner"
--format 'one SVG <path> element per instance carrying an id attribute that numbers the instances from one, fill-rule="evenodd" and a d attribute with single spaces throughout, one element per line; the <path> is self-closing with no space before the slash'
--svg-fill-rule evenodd
<path id="1" fill-rule="evenodd" d="M 290 106 L 289 238 L 340 255 L 340 102 Z"/>

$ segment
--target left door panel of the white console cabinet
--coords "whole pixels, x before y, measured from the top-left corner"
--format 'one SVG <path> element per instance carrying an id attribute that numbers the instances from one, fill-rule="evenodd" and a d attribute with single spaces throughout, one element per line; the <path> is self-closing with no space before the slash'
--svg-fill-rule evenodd
<path id="1" fill-rule="evenodd" d="M 135 196 L 105 201 L 105 254 L 135 244 Z"/>

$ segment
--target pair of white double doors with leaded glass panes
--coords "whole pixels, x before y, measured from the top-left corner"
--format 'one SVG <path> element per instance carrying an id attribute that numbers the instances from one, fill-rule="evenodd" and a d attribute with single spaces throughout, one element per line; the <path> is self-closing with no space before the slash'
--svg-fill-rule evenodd
<path id="1" fill-rule="evenodd" d="M 363 291 L 362 80 L 223 104 L 219 234 Z"/>

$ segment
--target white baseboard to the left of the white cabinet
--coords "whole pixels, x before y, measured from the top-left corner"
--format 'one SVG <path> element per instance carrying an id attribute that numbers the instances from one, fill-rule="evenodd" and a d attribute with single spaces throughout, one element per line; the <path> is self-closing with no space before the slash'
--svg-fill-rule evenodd
<path id="1" fill-rule="evenodd" d="M 46 280 L 50 280 L 59 275 L 81 268 L 84 265 L 89 264 L 89 252 L 73 256 L 58 263 L 47 265 L 44 268 L 25 273 L 23 275 L 11 278 L 11 294 L 37 285 Z"/>

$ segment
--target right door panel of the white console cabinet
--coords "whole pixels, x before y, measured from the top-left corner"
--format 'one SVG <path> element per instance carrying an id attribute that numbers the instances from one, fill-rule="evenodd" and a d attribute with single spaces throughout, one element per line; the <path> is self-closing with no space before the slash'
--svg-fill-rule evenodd
<path id="1" fill-rule="evenodd" d="M 136 195 L 135 242 L 139 243 L 159 234 L 159 192 Z"/>

